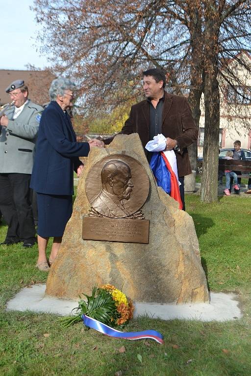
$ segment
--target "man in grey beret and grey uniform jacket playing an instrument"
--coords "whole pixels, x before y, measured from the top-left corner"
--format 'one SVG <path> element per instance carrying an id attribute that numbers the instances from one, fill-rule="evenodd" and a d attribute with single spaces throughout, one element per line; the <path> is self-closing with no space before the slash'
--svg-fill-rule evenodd
<path id="1" fill-rule="evenodd" d="M 23 80 L 12 82 L 6 93 L 14 105 L 0 117 L 0 211 L 8 224 L 1 244 L 36 242 L 30 203 L 30 176 L 43 107 L 28 99 Z"/>

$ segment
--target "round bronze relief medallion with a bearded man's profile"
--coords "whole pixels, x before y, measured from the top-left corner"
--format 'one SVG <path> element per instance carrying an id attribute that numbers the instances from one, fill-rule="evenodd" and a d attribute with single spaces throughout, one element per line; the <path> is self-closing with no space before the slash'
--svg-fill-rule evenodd
<path id="1" fill-rule="evenodd" d="M 91 167 L 85 190 L 91 207 L 100 216 L 130 217 L 139 211 L 148 197 L 149 178 L 137 160 L 113 154 Z"/>

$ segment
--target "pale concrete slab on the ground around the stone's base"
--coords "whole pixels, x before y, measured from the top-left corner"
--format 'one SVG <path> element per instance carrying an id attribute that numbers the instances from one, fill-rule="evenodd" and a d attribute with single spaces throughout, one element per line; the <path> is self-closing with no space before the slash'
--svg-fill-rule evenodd
<path id="1" fill-rule="evenodd" d="M 77 301 L 54 298 L 45 295 L 46 285 L 36 284 L 23 288 L 7 303 L 6 309 L 55 313 L 62 316 L 71 314 L 78 306 Z M 211 293 L 210 304 L 150 304 L 134 303 L 134 317 L 148 315 L 163 320 L 189 319 L 200 321 L 227 321 L 242 317 L 235 294 Z"/>

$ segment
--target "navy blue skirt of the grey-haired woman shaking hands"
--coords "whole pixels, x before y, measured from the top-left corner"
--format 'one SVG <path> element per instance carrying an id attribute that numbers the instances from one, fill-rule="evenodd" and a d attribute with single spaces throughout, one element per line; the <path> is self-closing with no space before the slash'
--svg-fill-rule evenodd
<path id="1" fill-rule="evenodd" d="M 72 196 L 37 193 L 37 207 L 37 234 L 42 237 L 63 236 L 73 211 Z"/>

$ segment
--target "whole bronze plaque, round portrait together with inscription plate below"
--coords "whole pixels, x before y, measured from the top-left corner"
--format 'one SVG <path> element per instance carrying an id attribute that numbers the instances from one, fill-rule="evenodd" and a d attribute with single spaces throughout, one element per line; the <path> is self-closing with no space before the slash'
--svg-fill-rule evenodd
<path id="1" fill-rule="evenodd" d="M 85 191 L 91 209 L 83 218 L 84 240 L 149 243 L 149 220 L 141 210 L 149 178 L 136 159 L 125 154 L 101 158 L 88 172 Z"/>

